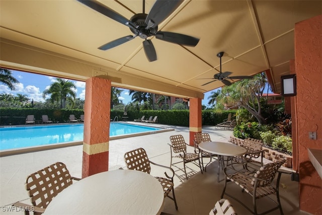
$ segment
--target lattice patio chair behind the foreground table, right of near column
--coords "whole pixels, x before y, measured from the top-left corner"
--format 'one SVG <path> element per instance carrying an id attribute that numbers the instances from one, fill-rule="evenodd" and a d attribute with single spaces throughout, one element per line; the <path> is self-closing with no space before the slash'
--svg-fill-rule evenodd
<path id="1" fill-rule="evenodd" d="M 165 175 L 167 178 L 163 178 L 163 177 L 155 177 L 155 178 L 161 183 L 164 191 L 164 196 L 172 199 L 175 202 L 176 210 L 178 210 L 178 205 L 177 205 L 176 195 L 175 195 L 175 188 L 173 183 L 173 177 L 175 175 L 175 172 L 172 168 L 159 165 L 150 161 L 147 157 L 145 150 L 142 148 L 138 148 L 125 153 L 124 161 L 128 169 L 138 170 L 138 171 L 146 172 L 148 174 L 150 174 L 151 172 L 150 164 L 169 169 L 172 173 L 172 176 L 169 176 L 168 173 L 165 172 Z M 169 195 L 171 191 L 172 191 L 172 196 Z"/>

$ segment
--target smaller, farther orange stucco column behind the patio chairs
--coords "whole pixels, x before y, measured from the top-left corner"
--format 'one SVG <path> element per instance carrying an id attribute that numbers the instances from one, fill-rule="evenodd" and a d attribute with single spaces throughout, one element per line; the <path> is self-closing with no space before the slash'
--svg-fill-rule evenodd
<path id="1" fill-rule="evenodd" d="M 200 98 L 189 99 L 189 144 L 193 146 L 193 139 L 195 138 L 195 133 L 202 131 L 202 105 Z"/>

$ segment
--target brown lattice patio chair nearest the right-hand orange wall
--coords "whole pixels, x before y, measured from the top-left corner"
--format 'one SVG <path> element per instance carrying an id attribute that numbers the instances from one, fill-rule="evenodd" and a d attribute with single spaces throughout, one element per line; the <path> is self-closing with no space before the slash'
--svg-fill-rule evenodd
<path id="1" fill-rule="evenodd" d="M 277 161 L 275 163 L 268 163 L 263 167 L 260 167 L 255 174 L 250 174 L 247 172 L 243 173 L 240 171 L 236 171 L 233 168 L 225 167 L 224 174 L 225 174 L 226 180 L 225 180 L 224 188 L 221 193 L 221 198 L 223 198 L 223 195 L 226 194 L 227 196 L 238 201 L 241 205 L 246 207 L 252 213 L 257 214 L 256 200 L 259 198 L 267 197 L 271 201 L 275 202 L 277 206 L 263 212 L 263 214 L 271 212 L 278 208 L 280 210 L 280 214 L 283 214 L 281 201 L 279 197 L 279 182 L 281 178 L 281 172 L 278 172 L 278 170 L 284 162 L 285 160 Z M 278 172 L 278 177 L 276 180 L 276 186 L 274 187 L 272 182 L 277 172 Z M 240 199 L 237 199 L 235 197 L 235 194 L 228 194 L 225 192 L 227 182 L 230 182 L 230 181 L 234 182 L 235 185 L 239 186 L 241 188 L 241 191 L 246 192 L 252 196 L 253 210 L 250 207 L 248 207 L 245 203 L 243 203 Z M 274 201 L 272 198 L 269 197 L 269 195 L 274 193 L 276 194 L 277 201 Z"/>

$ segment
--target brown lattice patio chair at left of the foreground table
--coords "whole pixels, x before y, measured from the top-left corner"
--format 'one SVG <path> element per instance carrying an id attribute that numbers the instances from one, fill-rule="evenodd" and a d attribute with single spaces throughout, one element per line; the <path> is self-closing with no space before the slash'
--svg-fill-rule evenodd
<path id="1" fill-rule="evenodd" d="M 72 184 L 72 180 L 81 179 L 71 177 L 65 164 L 54 163 L 29 175 L 25 180 L 25 187 L 32 205 L 16 202 L 13 206 L 34 208 L 34 214 L 41 214 L 58 193 Z M 29 211 L 25 210 L 25 214 L 29 214 Z"/>

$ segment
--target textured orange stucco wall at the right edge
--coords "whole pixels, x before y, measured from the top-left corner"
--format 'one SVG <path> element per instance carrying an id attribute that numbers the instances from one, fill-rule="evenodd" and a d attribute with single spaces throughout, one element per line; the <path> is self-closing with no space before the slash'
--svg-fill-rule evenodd
<path id="1" fill-rule="evenodd" d="M 297 95 L 295 123 L 299 165 L 300 209 L 322 214 L 322 180 L 308 159 L 308 148 L 322 149 L 322 15 L 295 25 Z M 292 116 L 292 123 L 294 123 Z M 317 132 L 317 139 L 308 132 Z"/>

